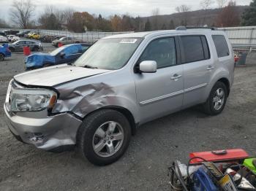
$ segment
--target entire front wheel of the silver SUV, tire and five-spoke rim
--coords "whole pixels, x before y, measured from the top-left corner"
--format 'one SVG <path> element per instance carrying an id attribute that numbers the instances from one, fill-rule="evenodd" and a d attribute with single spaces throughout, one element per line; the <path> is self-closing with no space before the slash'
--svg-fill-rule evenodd
<path id="1" fill-rule="evenodd" d="M 131 127 L 127 118 L 115 110 L 104 109 L 83 120 L 78 129 L 77 147 L 80 154 L 94 165 L 109 165 L 124 155 L 130 138 Z M 102 149 L 97 151 L 97 146 Z"/>

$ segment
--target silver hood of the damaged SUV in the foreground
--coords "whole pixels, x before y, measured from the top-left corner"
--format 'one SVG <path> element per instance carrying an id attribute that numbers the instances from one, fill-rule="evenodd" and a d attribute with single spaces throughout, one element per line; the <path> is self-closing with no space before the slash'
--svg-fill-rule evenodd
<path id="1" fill-rule="evenodd" d="M 109 70 L 86 69 L 82 67 L 62 64 L 18 74 L 14 77 L 14 79 L 23 85 L 53 87 L 64 82 L 69 82 L 84 77 L 91 77 L 97 74 L 105 73 L 107 71 Z"/>

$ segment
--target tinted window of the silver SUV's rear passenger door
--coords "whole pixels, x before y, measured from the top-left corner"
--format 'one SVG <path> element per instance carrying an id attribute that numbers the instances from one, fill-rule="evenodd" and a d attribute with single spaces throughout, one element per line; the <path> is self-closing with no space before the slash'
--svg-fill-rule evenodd
<path id="1" fill-rule="evenodd" d="M 184 50 L 182 63 L 192 63 L 210 58 L 206 36 L 181 36 L 181 46 Z"/>

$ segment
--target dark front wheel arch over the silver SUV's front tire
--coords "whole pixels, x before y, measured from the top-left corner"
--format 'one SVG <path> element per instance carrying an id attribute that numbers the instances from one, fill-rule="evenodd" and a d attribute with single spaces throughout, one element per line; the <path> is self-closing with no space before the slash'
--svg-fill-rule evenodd
<path id="1" fill-rule="evenodd" d="M 121 114 L 124 114 L 124 117 L 127 117 L 127 120 L 129 121 L 129 124 L 131 125 L 132 136 L 134 136 L 136 134 L 138 124 L 136 124 L 136 122 L 135 122 L 135 117 L 133 117 L 133 114 L 132 114 L 132 112 L 129 111 L 129 109 L 126 109 L 122 106 L 103 106 L 99 109 L 96 109 L 96 110 L 86 114 L 86 116 L 84 116 L 83 119 L 88 117 L 90 114 L 93 114 L 94 112 L 99 112 L 102 109 L 113 109 L 113 110 L 116 110 L 117 112 L 120 112 Z"/>

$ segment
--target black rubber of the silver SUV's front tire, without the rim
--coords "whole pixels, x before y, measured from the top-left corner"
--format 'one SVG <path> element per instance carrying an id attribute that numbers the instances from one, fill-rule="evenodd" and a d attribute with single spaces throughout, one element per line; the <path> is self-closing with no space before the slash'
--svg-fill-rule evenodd
<path id="1" fill-rule="evenodd" d="M 105 122 L 118 122 L 124 130 L 123 142 L 116 153 L 109 157 L 102 157 L 94 152 L 93 139 L 96 130 Z M 127 150 L 131 138 L 131 127 L 129 121 L 123 114 L 112 109 L 103 109 L 95 112 L 83 120 L 77 134 L 77 147 L 80 154 L 86 157 L 94 165 L 109 165 L 116 162 Z"/>

